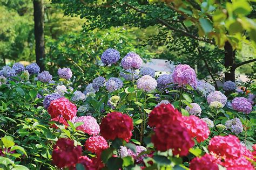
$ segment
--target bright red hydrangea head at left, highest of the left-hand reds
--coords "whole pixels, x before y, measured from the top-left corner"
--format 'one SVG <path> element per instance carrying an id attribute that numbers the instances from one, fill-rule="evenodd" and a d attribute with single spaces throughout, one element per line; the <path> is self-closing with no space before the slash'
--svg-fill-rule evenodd
<path id="1" fill-rule="evenodd" d="M 62 115 L 66 120 L 70 120 L 77 114 L 77 107 L 68 99 L 62 97 L 51 102 L 48 112 L 51 118 L 56 118 Z"/>

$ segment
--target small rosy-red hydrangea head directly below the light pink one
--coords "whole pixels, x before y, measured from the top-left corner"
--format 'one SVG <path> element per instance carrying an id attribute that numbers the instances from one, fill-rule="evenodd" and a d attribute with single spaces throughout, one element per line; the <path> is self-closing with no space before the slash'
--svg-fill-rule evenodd
<path id="1" fill-rule="evenodd" d="M 98 155 L 100 155 L 100 153 L 102 153 L 102 151 L 106 148 L 109 148 L 106 139 L 104 139 L 102 136 L 91 136 L 85 141 L 84 146 L 86 150 Z"/>

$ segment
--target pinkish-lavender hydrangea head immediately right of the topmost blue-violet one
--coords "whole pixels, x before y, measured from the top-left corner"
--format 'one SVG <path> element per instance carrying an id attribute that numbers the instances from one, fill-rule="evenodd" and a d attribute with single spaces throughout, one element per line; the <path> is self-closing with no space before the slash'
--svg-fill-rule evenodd
<path id="1" fill-rule="evenodd" d="M 127 53 L 121 61 L 121 65 L 124 69 L 139 69 L 142 67 L 143 60 L 136 53 L 129 52 Z"/>

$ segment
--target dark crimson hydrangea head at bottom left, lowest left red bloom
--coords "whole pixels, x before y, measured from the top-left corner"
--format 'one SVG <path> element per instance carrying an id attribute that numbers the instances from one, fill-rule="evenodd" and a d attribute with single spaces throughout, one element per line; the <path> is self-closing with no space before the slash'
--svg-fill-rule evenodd
<path id="1" fill-rule="evenodd" d="M 71 168 L 78 163 L 81 154 L 81 146 L 74 146 L 74 141 L 71 139 L 60 138 L 53 147 L 53 164 L 55 164 L 58 168 Z"/>

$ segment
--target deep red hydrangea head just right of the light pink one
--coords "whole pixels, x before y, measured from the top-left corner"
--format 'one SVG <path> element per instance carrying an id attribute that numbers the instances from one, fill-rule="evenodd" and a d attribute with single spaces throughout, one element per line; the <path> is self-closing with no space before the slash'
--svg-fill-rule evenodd
<path id="1" fill-rule="evenodd" d="M 120 112 L 111 112 L 103 118 L 102 124 L 100 124 L 100 134 L 107 140 L 121 138 L 129 141 L 132 130 L 132 119 Z"/>

